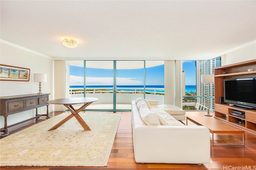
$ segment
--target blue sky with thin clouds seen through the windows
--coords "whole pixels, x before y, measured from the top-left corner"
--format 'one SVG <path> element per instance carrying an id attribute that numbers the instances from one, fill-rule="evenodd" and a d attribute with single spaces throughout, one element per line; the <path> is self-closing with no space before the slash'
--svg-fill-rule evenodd
<path id="1" fill-rule="evenodd" d="M 196 66 L 194 61 L 184 61 L 186 85 L 196 85 Z M 84 68 L 70 66 L 70 85 L 84 84 Z M 143 69 L 117 70 L 117 85 L 143 85 Z M 146 85 L 164 85 L 164 65 L 146 68 Z M 86 68 L 87 85 L 112 85 L 113 70 Z"/>

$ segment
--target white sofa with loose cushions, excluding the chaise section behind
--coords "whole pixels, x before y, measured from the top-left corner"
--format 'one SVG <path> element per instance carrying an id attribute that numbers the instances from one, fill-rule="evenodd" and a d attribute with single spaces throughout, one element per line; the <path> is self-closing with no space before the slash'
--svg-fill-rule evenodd
<path id="1" fill-rule="evenodd" d="M 186 126 L 165 111 L 153 112 L 145 100 L 132 101 L 132 133 L 137 163 L 210 163 L 206 127 Z"/>

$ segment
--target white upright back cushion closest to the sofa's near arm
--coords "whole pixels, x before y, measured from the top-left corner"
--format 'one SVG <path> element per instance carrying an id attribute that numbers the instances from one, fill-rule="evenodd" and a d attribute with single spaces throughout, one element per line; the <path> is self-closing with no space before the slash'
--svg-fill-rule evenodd
<path id="1" fill-rule="evenodd" d="M 156 113 L 150 111 L 147 105 L 140 106 L 140 117 L 146 125 L 161 125 Z"/>

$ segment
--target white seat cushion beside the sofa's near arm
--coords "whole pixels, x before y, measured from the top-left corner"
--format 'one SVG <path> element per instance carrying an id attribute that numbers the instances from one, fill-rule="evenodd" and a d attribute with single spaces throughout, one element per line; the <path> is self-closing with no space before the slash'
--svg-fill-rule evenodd
<path id="1" fill-rule="evenodd" d="M 163 110 L 155 111 L 158 120 L 161 125 L 183 125 L 180 121 L 177 121 L 169 113 Z"/>

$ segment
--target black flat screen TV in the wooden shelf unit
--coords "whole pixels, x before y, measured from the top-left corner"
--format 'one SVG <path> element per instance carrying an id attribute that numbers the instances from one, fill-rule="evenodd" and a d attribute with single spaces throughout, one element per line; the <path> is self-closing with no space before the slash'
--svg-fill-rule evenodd
<path id="1" fill-rule="evenodd" d="M 244 109 L 256 109 L 256 78 L 225 79 L 224 102 Z"/>

